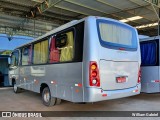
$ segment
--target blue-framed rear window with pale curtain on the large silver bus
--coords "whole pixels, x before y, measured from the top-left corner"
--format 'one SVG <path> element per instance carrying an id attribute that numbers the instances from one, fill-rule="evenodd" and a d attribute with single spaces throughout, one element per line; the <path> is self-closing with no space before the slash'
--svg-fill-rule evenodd
<path id="1" fill-rule="evenodd" d="M 97 27 L 102 46 L 113 49 L 137 49 L 137 35 L 134 28 L 107 20 L 97 20 Z"/>

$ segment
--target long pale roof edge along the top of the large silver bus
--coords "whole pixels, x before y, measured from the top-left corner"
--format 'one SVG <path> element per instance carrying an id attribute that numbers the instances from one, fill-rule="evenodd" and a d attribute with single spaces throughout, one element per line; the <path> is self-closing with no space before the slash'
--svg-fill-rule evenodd
<path id="1" fill-rule="evenodd" d="M 64 25 L 61 25 L 61 26 L 59 26 L 59 27 L 57 27 L 57 28 L 55 28 L 55 29 L 47 32 L 46 34 L 44 34 L 44 35 L 42 35 L 42 36 L 34 39 L 33 41 L 31 41 L 31 42 L 29 42 L 29 43 L 26 43 L 26 44 L 24 44 L 24 45 L 21 45 L 21 46 L 16 47 L 15 49 L 18 49 L 18 48 L 20 48 L 20 47 L 29 45 L 29 44 L 31 44 L 31 43 L 33 43 L 33 42 L 35 42 L 35 41 L 39 41 L 39 40 L 41 40 L 42 38 L 45 38 L 45 37 L 47 37 L 47 36 L 49 36 L 49 35 L 52 35 L 52 34 L 54 34 L 54 33 L 56 33 L 56 32 L 59 32 L 59 31 L 64 30 L 64 29 L 66 29 L 66 28 L 68 28 L 68 27 L 71 27 L 71 26 L 73 26 L 73 25 L 76 25 L 76 24 L 78 24 L 78 23 L 80 23 L 80 22 L 82 22 L 82 21 L 85 21 L 85 20 L 88 19 L 88 18 L 90 18 L 90 19 L 105 19 L 105 20 L 118 22 L 118 23 L 127 25 L 127 26 L 129 26 L 129 27 L 132 27 L 132 26 L 126 24 L 126 23 L 120 22 L 120 21 L 115 20 L 115 19 L 106 18 L 106 17 L 99 17 L 99 16 L 88 16 L 88 17 L 85 17 L 85 18 L 83 18 L 83 19 L 73 20 L 73 21 L 68 22 L 68 23 L 66 23 L 66 24 L 64 24 Z"/>

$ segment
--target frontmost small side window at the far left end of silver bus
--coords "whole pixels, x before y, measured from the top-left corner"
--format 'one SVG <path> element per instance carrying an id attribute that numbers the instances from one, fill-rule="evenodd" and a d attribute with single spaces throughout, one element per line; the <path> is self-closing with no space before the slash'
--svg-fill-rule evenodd
<path id="1" fill-rule="evenodd" d="M 18 63 L 19 63 L 19 52 L 18 50 L 16 50 L 11 55 L 11 67 L 18 66 Z"/>

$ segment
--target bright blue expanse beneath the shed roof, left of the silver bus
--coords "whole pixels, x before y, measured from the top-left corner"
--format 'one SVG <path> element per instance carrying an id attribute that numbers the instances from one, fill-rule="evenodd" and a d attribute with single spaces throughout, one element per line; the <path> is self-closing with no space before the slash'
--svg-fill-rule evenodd
<path id="1" fill-rule="evenodd" d="M 13 36 L 13 39 L 9 41 L 6 34 L 0 34 L 0 50 L 13 50 L 33 39 L 27 36 Z"/>

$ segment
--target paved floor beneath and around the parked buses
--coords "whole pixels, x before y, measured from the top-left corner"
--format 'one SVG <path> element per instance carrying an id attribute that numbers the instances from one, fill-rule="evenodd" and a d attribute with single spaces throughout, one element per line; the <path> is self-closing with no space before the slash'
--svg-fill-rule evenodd
<path id="1" fill-rule="evenodd" d="M 42 104 L 40 94 L 29 91 L 15 94 L 12 88 L 0 88 L 0 111 L 160 111 L 160 94 L 143 93 L 133 97 L 93 104 L 74 104 L 62 101 L 60 105 L 46 107 Z M 72 118 L 69 119 L 71 120 Z M 123 120 L 125 119 L 123 118 Z M 145 118 L 139 120 L 143 119 Z M 148 120 L 150 119 L 148 118 Z M 158 120 L 159 118 L 155 119 Z M 110 119 L 108 118 L 107 120 Z"/>

